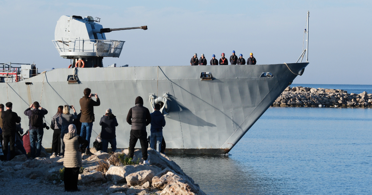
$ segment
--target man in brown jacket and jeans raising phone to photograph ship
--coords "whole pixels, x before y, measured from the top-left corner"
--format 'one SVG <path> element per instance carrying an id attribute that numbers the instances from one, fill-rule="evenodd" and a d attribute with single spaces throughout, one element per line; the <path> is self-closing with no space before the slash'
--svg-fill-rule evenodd
<path id="1" fill-rule="evenodd" d="M 86 155 L 93 155 L 90 152 L 90 136 L 92 135 L 92 127 L 94 122 L 94 111 L 93 106 L 99 106 L 101 102 L 99 101 L 97 94 L 91 94 L 89 88 L 84 89 L 84 96 L 80 99 L 80 108 L 81 108 L 81 131 L 80 136 L 85 138 L 88 141 L 88 147 L 85 150 Z M 92 95 L 96 97 L 97 101 L 92 100 Z"/>

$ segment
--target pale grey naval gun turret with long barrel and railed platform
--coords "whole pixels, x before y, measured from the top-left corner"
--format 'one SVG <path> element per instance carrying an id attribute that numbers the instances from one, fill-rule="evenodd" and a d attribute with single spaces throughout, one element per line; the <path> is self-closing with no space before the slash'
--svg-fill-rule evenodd
<path id="1" fill-rule="evenodd" d="M 72 67 L 103 67 L 103 57 L 119 58 L 124 42 L 107 40 L 105 33 L 116 30 L 143 29 L 147 26 L 110 29 L 100 25 L 92 16 L 61 16 L 52 40 L 60 56 L 73 59 Z"/>

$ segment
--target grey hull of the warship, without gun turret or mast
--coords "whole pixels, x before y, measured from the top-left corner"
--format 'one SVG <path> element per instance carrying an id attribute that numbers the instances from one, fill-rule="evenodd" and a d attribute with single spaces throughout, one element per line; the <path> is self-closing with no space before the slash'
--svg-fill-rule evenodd
<path id="1" fill-rule="evenodd" d="M 296 63 L 288 67 L 297 73 L 307 65 Z M 166 153 L 223 154 L 234 147 L 297 76 L 288 67 L 273 64 L 78 68 L 78 84 L 67 82 L 73 69 L 54 69 L 23 81 L 0 83 L 0 103 L 5 104 L 9 98 L 13 111 L 22 117 L 23 129 L 28 129 L 28 118 L 23 112 L 34 101 L 41 101 L 41 106 L 49 111 L 45 116 L 49 126 L 59 105 L 74 105 L 80 110 L 79 100 L 84 88 L 89 87 L 101 101 L 100 106 L 94 107 L 96 121 L 91 147 L 101 130 L 100 117 L 111 108 L 119 123 L 117 147 L 128 148 L 131 126 L 126 123 L 126 116 L 135 98 L 141 96 L 151 112 L 149 94 L 162 97 L 167 92 L 169 115 L 163 129 Z M 212 72 L 214 78 L 201 81 L 201 72 Z M 261 78 L 263 72 L 271 72 L 274 77 Z M 150 125 L 147 133 L 150 134 Z M 44 129 L 44 147 L 51 147 L 52 134 L 53 130 Z M 139 142 L 136 147 L 140 147 Z"/>

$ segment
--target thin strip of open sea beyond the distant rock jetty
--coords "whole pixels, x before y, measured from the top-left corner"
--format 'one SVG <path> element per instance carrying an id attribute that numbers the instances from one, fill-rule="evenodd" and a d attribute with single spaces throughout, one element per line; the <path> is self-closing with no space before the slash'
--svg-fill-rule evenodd
<path id="1" fill-rule="evenodd" d="M 372 85 L 331 85 L 331 84 L 292 84 L 291 87 L 312 87 L 312 88 L 324 88 L 324 89 L 339 89 L 346 90 L 349 94 L 355 93 L 360 94 L 363 91 L 372 93 Z"/>

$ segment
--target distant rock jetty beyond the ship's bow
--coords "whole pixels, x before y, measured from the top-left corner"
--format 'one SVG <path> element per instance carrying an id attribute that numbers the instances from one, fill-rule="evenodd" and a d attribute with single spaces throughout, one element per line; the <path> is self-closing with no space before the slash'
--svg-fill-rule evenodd
<path id="1" fill-rule="evenodd" d="M 272 106 L 298 107 L 372 107 L 372 94 L 363 91 L 360 94 L 344 90 L 287 87 Z"/>

